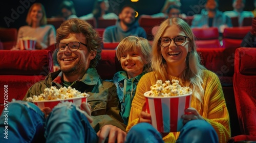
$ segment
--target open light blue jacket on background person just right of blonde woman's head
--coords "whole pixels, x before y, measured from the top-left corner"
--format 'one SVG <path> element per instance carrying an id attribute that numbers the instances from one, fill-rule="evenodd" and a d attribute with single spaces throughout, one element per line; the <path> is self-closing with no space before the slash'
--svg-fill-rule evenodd
<path id="1" fill-rule="evenodd" d="M 191 28 L 194 27 L 202 27 L 204 25 L 209 25 L 208 23 L 209 17 L 208 17 L 208 11 L 203 9 L 201 14 L 197 14 L 194 16 L 192 20 Z M 228 27 L 232 27 L 231 19 L 225 15 L 223 12 L 216 10 L 216 15 L 212 22 L 212 27 L 217 27 L 220 31 L 221 25 L 227 25 Z"/>

